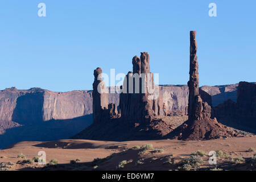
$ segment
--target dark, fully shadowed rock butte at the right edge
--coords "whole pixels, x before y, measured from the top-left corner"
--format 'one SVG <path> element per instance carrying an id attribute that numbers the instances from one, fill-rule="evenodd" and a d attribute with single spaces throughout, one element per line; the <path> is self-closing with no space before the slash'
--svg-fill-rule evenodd
<path id="1" fill-rule="evenodd" d="M 256 133 L 256 84 L 241 81 L 237 103 L 225 101 L 214 107 L 214 116 L 225 125 Z"/>

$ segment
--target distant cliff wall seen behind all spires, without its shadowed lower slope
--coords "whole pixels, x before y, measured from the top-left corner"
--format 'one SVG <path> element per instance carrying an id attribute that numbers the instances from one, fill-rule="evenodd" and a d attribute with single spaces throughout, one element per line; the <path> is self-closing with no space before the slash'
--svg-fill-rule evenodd
<path id="1" fill-rule="evenodd" d="M 202 86 L 201 90 L 212 96 L 212 104 L 216 106 L 228 99 L 236 102 L 237 86 L 238 84 Z M 187 85 L 160 85 L 159 90 L 167 113 L 185 113 L 188 105 Z M 119 94 L 109 94 L 109 103 L 119 105 Z M 53 119 L 73 119 L 92 113 L 92 90 L 51 92 L 40 88 L 28 90 L 8 88 L 0 91 L 0 132 L 2 133 L 5 129 L 18 126 L 7 121 L 26 125 Z"/>

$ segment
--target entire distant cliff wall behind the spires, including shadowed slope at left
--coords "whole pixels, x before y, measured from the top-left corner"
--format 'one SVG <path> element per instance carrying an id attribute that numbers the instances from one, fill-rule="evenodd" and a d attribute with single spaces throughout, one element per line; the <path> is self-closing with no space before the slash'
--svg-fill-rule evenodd
<path id="1" fill-rule="evenodd" d="M 236 85 L 202 86 L 201 89 L 212 96 L 213 105 L 218 105 L 229 98 L 236 101 Z M 187 85 L 160 85 L 159 90 L 167 113 L 185 113 Z M 110 93 L 109 103 L 119 105 L 119 94 Z M 0 148 L 22 140 L 69 138 L 92 123 L 92 113 L 92 90 L 1 90 L 0 140 L 5 142 Z"/>

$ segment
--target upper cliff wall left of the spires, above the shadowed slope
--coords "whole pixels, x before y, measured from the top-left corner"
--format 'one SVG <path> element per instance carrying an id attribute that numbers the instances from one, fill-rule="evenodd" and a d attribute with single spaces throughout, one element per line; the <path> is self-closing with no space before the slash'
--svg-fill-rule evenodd
<path id="1" fill-rule="evenodd" d="M 92 114 L 92 93 L 88 90 L 51 92 L 40 88 L 0 92 L 0 121 L 20 124 L 72 119 Z"/>

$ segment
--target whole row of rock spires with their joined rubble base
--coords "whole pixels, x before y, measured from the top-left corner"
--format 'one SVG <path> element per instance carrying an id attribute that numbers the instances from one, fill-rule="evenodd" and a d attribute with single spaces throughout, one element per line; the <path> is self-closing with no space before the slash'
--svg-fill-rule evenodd
<path id="1" fill-rule="evenodd" d="M 107 106 L 105 95 L 96 93 L 98 85 L 104 85 L 101 79 L 96 79 L 101 73 L 101 69 L 96 69 L 93 84 L 93 92 L 96 94 L 95 101 L 93 101 L 96 120 L 93 125 L 73 138 L 204 140 L 237 136 L 237 133 L 218 123 L 216 118 L 210 119 L 211 98 L 209 94 L 199 89 L 196 32 L 191 31 L 190 35 L 188 121 L 174 130 L 170 122 L 164 121 L 164 118 L 160 117 L 166 115 L 166 106 L 163 104 L 158 88 L 152 89 L 155 88 L 155 85 L 153 74 L 150 72 L 150 57 L 147 52 L 141 52 L 140 58 L 133 57 L 133 72 L 128 72 L 124 79 L 118 112 L 115 105 Z M 151 92 L 148 92 L 149 90 Z M 152 92 L 152 90 L 158 92 Z M 104 127 L 102 127 L 102 122 L 105 123 Z"/>

